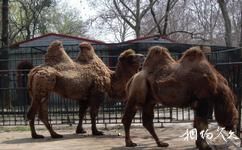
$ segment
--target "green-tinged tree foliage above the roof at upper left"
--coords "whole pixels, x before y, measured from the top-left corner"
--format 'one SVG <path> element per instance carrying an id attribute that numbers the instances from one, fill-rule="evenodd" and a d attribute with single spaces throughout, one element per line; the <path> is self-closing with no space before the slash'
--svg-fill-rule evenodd
<path id="1" fill-rule="evenodd" d="M 10 2 L 10 45 L 48 32 L 83 36 L 80 13 L 60 6 L 60 0 L 16 0 Z M 64 8 L 64 9 L 63 9 Z"/>

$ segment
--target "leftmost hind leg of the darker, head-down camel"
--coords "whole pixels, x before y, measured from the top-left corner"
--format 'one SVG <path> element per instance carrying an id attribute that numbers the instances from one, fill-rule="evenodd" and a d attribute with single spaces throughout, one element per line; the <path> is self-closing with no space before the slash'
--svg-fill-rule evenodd
<path id="1" fill-rule="evenodd" d="M 132 119 L 136 114 L 136 111 L 137 111 L 137 108 L 135 104 L 131 101 L 128 101 L 126 103 L 124 115 L 122 118 L 122 123 L 124 125 L 124 131 L 125 131 L 125 144 L 127 147 L 137 146 L 137 144 L 134 143 L 130 138 L 130 126 L 131 126 Z"/>

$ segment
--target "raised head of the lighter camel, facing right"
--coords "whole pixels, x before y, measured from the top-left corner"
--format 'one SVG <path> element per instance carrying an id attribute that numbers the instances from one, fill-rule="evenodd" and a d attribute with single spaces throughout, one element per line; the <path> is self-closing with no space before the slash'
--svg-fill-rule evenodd
<path id="1" fill-rule="evenodd" d="M 125 68 L 126 71 L 132 73 L 138 72 L 144 61 L 144 55 L 135 53 L 134 50 L 128 49 L 122 52 L 118 58 L 118 65 Z M 134 74 L 133 73 L 133 74 Z"/>

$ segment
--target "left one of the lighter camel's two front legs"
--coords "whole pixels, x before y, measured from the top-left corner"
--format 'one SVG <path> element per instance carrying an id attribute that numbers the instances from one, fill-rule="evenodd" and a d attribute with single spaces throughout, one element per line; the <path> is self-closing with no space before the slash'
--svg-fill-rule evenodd
<path id="1" fill-rule="evenodd" d="M 87 108 L 88 108 L 88 102 L 86 100 L 80 100 L 79 101 L 79 123 L 76 128 L 76 134 L 86 133 L 86 131 L 82 127 L 82 122 L 83 122 L 83 118 L 86 114 Z"/>

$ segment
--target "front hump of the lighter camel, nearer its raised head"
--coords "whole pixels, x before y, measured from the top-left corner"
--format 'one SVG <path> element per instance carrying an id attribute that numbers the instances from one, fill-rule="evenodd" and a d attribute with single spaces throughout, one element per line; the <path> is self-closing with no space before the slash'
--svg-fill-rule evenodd
<path id="1" fill-rule="evenodd" d="M 90 62 L 93 60 L 95 54 L 94 48 L 88 42 L 82 42 L 79 45 L 80 52 L 77 56 L 77 61 L 80 62 Z"/>

